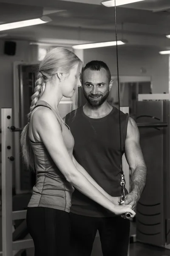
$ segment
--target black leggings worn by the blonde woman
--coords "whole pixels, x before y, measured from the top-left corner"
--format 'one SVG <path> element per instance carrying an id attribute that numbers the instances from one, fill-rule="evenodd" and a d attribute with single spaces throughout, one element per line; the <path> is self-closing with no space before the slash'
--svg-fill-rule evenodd
<path id="1" fill-rule="evenodd" d="M 45 207 L 28 207 L 27 227 L 34 241 L 34 256 L 68 256 L 69 213 Z"/>

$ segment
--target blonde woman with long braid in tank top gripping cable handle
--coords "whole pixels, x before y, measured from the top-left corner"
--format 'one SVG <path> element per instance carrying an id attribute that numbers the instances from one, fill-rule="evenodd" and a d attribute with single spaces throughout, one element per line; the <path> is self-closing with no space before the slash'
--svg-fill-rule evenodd
<path id="1" fill-rule="evenodd" d="M 76 167 L 74 138 L 59 115 L 58 104 L 63 96 L 74 95 L 77 84 L 81 84 L 81 68 L 79 58 L 65 48 L 47 53 L 40 63 L 29 122 L 21 135 L 25 163 L 35 167 L 37 175 L 27 210 L 35 256 L 68 255 L 73 186 L 116 215 L 135 215 L 131 206 L 113 204 L 114 199 L 83 168 Z"/>

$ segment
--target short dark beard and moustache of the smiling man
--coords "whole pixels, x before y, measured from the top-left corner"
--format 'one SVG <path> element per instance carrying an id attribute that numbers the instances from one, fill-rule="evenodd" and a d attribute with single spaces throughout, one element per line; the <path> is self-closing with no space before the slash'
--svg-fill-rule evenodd
<path id="1" fill-rule="evenodd" d="M 83 90 L 83 94 L 85 96 L 85 98 L 87 99 L 88 103 L 92 106 L 92 107 L 99 107 L 101 106 L 106 99 L 109 96 L 109 90 L 103 95 L 103 94 L 97 94 L 97 95 L 93 95 L 93 94 L 86 94 L 85 91 Z M 99 97 L 100 96 L 100 97 Z M 99 99 L 93 100 L 93 97 L 99 97 Z"/>

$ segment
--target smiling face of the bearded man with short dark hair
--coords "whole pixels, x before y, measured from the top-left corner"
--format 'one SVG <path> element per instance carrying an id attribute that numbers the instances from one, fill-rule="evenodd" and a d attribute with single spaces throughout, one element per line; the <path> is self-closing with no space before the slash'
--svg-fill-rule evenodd
<path id="1" fill-rule="evenodd" d="M 92 107 L 102 105 L 108 98 L 113 81 L 109 83 L 107 71 L 87 69 L 83 72 L 82 89 L 85 98 Z"/>

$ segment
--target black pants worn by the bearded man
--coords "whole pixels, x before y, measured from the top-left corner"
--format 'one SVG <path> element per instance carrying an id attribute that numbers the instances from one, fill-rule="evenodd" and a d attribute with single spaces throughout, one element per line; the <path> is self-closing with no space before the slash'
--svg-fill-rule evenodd
<path id="1" fill-rule="evenodd" d="M 70 213 L 70 218 L 70 256 L 91 256 L 97 230 L 99 230 L 103 256 L 127 256 L 130 220 L 120 216 L 95 218 L 74 213 Z"/>

